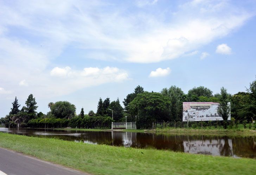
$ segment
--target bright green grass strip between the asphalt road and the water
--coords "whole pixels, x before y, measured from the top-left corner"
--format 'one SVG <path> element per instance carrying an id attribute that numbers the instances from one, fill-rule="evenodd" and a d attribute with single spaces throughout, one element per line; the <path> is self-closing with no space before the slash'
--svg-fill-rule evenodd
<path id="1" fill-rule="evenodd" d="M 92 174 L 255 174 L 256 165 L 254 159 L 90 145 L 8 133 L 0 133 L 0 147 Z"/>

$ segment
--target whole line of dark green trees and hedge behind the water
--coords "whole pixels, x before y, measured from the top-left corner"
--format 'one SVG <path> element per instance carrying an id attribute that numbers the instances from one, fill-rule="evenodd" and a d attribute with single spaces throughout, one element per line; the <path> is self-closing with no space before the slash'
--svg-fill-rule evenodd
<path id="1" fill-rule="evenodd" d="M 21 110 L 15 97 L 11 111 L 1 121 L 6 127 L 17 127 L 19 124 L 20 127 L 110 128 L 111 122 L 125 122 L 126 116 L 128 122 L 136 121 L 137 128 L 152 128 L 152 123 L 157 122 L 182 123 L 183 102 L 220 103 L 218 113 L 223 117 L 222 124 L 226 128 L 230 113 L 238 121 L 256 118 L 256 80 L 250 83 L 246 92 L 233 95 L 224 87 L 216 94 L 204 86 L 193 87 L 186 94 L 177 86 L 164 88 L 160 92 L 147 92 L 138 85 L 124 98 L 124 108 L 119 98 L 112 102 L 108 97 L 104 101 L 100 98 L 96 113 L 91 110 L 88 114 L 84 114 L 83 108 L 76 114 L 76 106 L 67 101 L 50 102 L 47 114 L 37 113 L 36 100 L 30 94 Z M 231 102 L 230 108 L 228 102 Z"/>

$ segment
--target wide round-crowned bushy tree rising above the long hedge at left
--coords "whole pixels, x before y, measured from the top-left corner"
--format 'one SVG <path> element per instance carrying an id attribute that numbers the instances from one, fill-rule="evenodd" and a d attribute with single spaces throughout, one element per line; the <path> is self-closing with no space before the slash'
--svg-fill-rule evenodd
<path id="1" fill-rule="evenodd" d="M 75 117 L 76 106 L 67 101 L 59 101 L 51 106 L 51 113 L 55 118 L 71 119 Z"/>

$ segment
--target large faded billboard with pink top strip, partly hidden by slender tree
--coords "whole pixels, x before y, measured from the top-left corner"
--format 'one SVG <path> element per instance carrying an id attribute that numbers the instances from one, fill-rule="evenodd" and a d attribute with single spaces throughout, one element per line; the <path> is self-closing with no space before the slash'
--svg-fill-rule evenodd
<path id="1" fill-rule="evenodd" d="M 230 106 L 230 102 L 228 105 Z M 218 107 L 219 103 L 214 102 L 183 102 L 183 121 L 223 120 L 218 113 Z"/>

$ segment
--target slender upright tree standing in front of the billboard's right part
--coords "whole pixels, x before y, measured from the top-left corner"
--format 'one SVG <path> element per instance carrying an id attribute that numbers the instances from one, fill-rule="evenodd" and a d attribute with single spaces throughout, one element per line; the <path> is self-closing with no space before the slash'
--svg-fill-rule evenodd
<path id="1" fill-rule="evenodd" d="M 218 107 L 218 113 L 222 116 L 223 118 L 223 126 L 224 129 L 227 128 L 227 120 L 230 115 L 230 105 L 229 105 L 229 97 L 230 94 L 227 92 L 227 89 L 224 87 L 220 88 L 220 105 Z"/>

